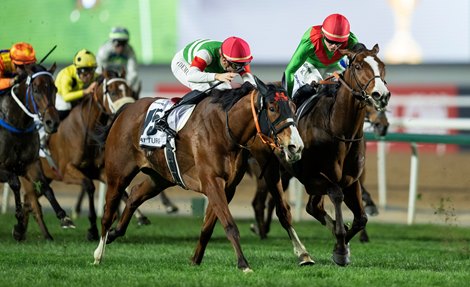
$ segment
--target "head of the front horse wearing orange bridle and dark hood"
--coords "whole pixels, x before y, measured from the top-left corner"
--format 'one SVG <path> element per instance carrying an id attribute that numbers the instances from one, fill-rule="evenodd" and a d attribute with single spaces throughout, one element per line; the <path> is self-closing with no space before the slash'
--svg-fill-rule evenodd
<path id="1" fill-rule="evenodd" d="M 255 81 L 260 94 L 258 121 L 261 134 L 274 143 L 276 155 L 280 159 L 288 163 L 298 161 L 304 144 L 294 121 L 294 103 L 286 96 L 282 87 L 266 85 L 256 77 Z"/>

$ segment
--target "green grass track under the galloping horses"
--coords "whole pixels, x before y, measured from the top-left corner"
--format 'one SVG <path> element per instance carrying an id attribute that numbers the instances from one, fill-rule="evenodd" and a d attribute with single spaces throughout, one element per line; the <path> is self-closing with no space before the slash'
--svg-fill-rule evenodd
<path id="1" fill-rule="evenodd" d="M 233 249 L 216 226 L 204 260 L 192 266 L 201 219 L 151 216 L 152 225 L 133 221 L 127 235 L 106 248 L 94 266 L 97 242 L 86 241 L 86 218 L 77 229 L 61 230 L 46 215 L 53 242 L 30 222 L 25 242 L 11 236 L 13 214 L 1 215 L 0 286 L 466 286 L 470 280 L 470 229 L 450 225 L 369 224 L 371 242 L 351 242 L 351 264 L 331 261 L 332 235 L 315 221 L 295 224 L 316 264 L 298 267 L 286 232 L 273 224 L 259 240 L 250 221 L 237 220 L 252 269 L 236 268 Z"/>

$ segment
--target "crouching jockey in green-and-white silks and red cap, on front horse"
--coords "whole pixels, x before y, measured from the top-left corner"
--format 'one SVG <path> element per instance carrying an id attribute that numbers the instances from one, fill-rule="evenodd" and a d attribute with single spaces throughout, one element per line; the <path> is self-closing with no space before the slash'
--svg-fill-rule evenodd
<path id="1" fill-rule="evenodd" d="M 231 89 L 236 76 L 255 85 L 250 46 L 238 37 L 223 42 L 196 40 L 179 51 L 171 62 L 173 75 L 191 90 L 204 91 L 220 82 L 218 89 Z"/>

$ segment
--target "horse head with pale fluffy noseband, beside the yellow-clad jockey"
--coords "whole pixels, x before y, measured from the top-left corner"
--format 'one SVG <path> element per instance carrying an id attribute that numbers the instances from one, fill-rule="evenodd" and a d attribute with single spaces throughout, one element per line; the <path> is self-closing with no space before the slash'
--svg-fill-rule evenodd
<path id="1" fill-rule="evenodd" d="M 93 97 L 107 114 L 115 114 L 125 104 L 135 102 L 125 74 L 104 70 L 99 82 Z"/>

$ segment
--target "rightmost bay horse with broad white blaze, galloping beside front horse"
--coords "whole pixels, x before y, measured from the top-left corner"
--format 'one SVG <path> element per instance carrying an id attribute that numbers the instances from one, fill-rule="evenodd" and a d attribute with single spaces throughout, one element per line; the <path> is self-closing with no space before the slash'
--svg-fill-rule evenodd
<path id="1" fill-rule="evenodd" d="M 350 262 L 349 241 L 367 223 L 359 182 L 365 164 L 365 107 L 384 111 L 390 92 L 377 44 L 371 50 L 357 44 L 340 52 L 349 65 L 342 75 L 335 74 L 337 90 L 320 92 L 316 105 L 298 119 L 305 144 L 302 159 L 284 167 L 305 186 L 306 211 L 335 235 L 333 261 L 345 266 Z M 325 195 L 334 205 L 335 219 L 325 211 Z M 350 228 L 344 224 L 343 201 L 354 216 Z"/>

